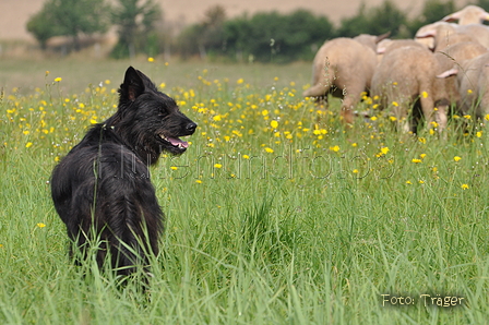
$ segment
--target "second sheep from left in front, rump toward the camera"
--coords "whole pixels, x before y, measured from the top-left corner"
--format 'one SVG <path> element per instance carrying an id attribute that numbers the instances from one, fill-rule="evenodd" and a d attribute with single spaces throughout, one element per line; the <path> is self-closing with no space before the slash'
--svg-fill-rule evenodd
<path id="1" fill-rule="evenodd" d="M 416 133 L 417 129 L 416 119 L 407 120 L 413 104 L 415 108 L 420 105 L 428 125 L 434 118 L 442 131 L 446 127 L 448 96 L 444 81 L 436 77 L 437 68 L 438 61 L 426 48 L 405 46 L 390 51 L 373 74 L 372 98 L 380 98 L 380 108 L 392 107 L 398 125 L 406 132 Z M 413 113 L 416 117 L 418 110 Z"/>

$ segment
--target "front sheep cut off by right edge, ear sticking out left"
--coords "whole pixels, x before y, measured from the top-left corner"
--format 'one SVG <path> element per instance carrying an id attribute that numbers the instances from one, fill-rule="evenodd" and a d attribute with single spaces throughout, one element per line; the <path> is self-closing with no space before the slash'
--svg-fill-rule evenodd
<path id="1" fill-rule="evenodd" d="M 456 75 L 462 96 L 460 109 L 463 115 L 475 113 L 482 118 L 489 113 L 489 52 L 462 62 L 438 75 L 446 79 Z"/>

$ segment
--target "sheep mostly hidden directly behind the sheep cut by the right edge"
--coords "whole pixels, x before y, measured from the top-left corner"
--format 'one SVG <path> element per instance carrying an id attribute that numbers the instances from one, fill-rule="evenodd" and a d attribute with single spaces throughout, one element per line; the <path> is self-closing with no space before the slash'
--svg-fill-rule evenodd
<path id="1" fill-rule="evenodd" d="M 450 70 L 454 65 L 458 65 L 465 60 L 478 57 L 487 52 L 487 49 L 478 43 L 464 41 L 452 45 L 445 48 L 443 51 L 434 53 L 434 58 L 438 61 L 438 74 Z M 452 104 L 461 103 L 461 94 L 456 86 L 456 79 L 450 77 L 445 80 L 445 89 L 449 95 L 449 100 Z"/>

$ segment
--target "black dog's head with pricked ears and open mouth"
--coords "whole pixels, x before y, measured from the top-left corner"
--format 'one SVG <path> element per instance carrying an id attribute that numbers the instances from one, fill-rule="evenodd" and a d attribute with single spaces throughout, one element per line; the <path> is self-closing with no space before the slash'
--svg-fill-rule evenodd
<path id="1" fill-rule="evenodd" d="M 119 88 L 117 116 L 115 122 L 124 141 L 150 154 L 151 164 L 156 162 L 163 151 L 182 154 L 189 144 L 180 136 L 193 134 L 196 128 L 172 98 L 158 92 L 146 75 L 132 67 L 126 71 Z"/>

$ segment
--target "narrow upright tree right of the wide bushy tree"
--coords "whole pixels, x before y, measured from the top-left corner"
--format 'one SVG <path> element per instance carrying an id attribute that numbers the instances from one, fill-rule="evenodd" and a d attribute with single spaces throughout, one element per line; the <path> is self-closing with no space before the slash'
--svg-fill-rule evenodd
<path id="1" fill-rule="evenodd" d="M 119 0 L 112 22 L 118 26 L 119 40 L 112 49 L 116 59 L 134 57 L 147 48 L 154 36 L 155 24 L 162 20 L 162 10 L 153 0 Z"/>

